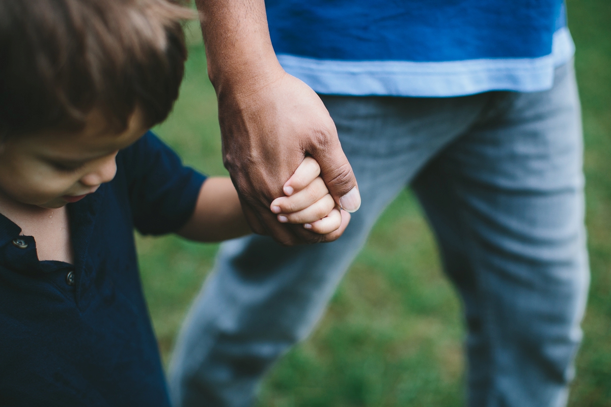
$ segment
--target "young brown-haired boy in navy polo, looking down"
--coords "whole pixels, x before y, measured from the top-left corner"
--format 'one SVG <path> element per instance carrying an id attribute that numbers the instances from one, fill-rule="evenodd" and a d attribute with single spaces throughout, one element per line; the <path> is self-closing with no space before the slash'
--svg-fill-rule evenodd
<path id="1" fill-rule="evenodd" d="M 133 228 L 249 232 L 228 178 L 147 132 L 177 98 L 188 16 L 165 0 L 0 2 L 0 405 L 169 405 Z M 271 211 L 340 234 L 319 172 L 305 159 Z"/>

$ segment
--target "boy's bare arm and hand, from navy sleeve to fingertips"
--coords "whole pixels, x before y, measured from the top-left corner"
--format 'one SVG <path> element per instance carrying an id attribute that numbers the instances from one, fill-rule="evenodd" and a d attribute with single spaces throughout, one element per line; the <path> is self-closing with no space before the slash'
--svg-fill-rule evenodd
<path id="1" fill-rule="evenodd" d="M 340 214 L 335 208 L 319 173 L 318 163 L 306 157 L 284 185 L 290 196 L 274 200 L 272 212 L 279 214 L 280 222 L 305 223 L 304 228 L 313 232 L 338 237 L 348 225 L 350 215 L 345 211 Z M 251 233 L 229 178 L 208 178 L 203 183 L 193 215 L 177 233 L 200 242 L 219 242 Z"/>

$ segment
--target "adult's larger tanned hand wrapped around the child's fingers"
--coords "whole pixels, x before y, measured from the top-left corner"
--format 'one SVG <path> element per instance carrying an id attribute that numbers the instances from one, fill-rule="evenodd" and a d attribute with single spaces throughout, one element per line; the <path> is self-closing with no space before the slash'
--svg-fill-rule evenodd
<path id="1" fill-rule="evenodd" d="M 283 185 L 306 155 L 321 167 L 321 178 L 338 206 L 359 209 L 360 195 L 335 124 L 313 90 L 284 70 L 247 92 L 219 92 L 223 156 L 251 228 L 285 245 L 330 242 L 335 232 L 315 234 L 280 223 L 269 211 Z M 343 212 L 343 217 L 346 217 Z"/>

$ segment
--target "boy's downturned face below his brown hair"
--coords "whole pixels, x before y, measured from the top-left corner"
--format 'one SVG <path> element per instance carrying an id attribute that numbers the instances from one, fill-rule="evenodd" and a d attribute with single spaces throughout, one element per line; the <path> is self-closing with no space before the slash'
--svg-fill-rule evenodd
<path id="1" fill-rule="evenodd" d="M 81 132 L 40 132 L 10 137 L 0 145 L 0 192 L 18 203 L 62 207 L 111 181 L 115 156 L 147 129 L 139 115 L 126 131 L 104 131 L 101 115 L 92 113 Z"/>

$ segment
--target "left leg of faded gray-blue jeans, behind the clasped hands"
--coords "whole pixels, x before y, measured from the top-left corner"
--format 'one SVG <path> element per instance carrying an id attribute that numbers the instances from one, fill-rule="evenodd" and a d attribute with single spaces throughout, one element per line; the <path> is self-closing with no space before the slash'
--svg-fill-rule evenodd
<path id="1" fill-rule="evenodd" d="M 251 236 L 222 245 L 175 347 L 174 405 L 251 405 L 269 366 L 320 319 L 380 212 L 430 157 L 469 128 L 486 99 L 323 96 L 362 206 L 332 243 L 287 248 Z"/>

